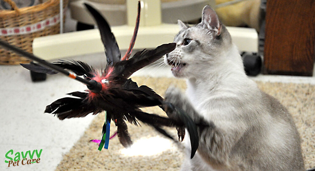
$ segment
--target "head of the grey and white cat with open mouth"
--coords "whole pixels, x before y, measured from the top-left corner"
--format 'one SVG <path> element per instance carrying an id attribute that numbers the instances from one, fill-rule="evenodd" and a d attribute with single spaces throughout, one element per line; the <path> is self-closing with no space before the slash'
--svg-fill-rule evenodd
<path id="1" fill-rule="evenodd" d="M 176 49 L 164 56 L 176 77 L 198 77 L 205 69 L 213 69 L 223 62 L 232 45 L 231 36 L 210 6 L 205 6 L 202 21 L 188 26 L 178 21 L 180 32 L 175 36 Z"/>

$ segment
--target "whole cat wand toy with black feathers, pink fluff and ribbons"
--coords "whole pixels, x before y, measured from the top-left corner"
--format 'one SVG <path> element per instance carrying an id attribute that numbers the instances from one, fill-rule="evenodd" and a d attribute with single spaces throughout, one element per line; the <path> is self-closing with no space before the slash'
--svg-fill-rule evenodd
<path id="1" fill-rule="evenodd" d="M 94 68 L 81 61 L 49 63 L 0 41 L 0 45 L 7 49 L 13 50 L 39 63 L 21 64 L 24 68 L 46 74 L 61 72 L 87 85 L 88 90 L 85 92 L 75 91 L 68 93 L 68 95 L 74 96 L 75 98 L 64 97 L 46 106 L 45 113 L 55 114 L 60 120 L 63 120 L 66 118 L 84 117 L 90 113 L 96 115 L 102 111 L 106 111 L 101 140 L 95 140 L 99 143 L 99 150 L 103 148 L 103 145 L 104 148 L 108 147 L 111 120 L 114 121 L 117 126 L 117 136 L 124 147 L 129 147 L 132 144 L 125 121 L 136 126 L 139 124 L 138 120 L 142 121 L 169 138 L 172 137 L 161 128 L 162 126 L 178 127 L 181 128 L 181 130 L 183 127 L 186 127 L 190 134 L 192 145 L 191 157 L 193 157 L 199 143 L 197 127 L 192 119 L 183 112 L 178 112 L 182 121 L 174 121 L 169 118 L 143 112 L 139 108 L 157 105 L 162 109 L 162 105 L 168 105 L 175 111 L 180 110 L 170 103 L 165 103 L 161 96 L 146 85 L 139 87 L 137 83 L 128 79 L 135 71 L 173 51 L 176 44 L 162 44 L 154 50 L 142 50 L 135 53 L 135 55 L 129 59 L 139 27 L 140 3 L 138 2 L 138 15 L 134 35 L 125 56 L 120 58 L 121 53 L 116 39 L 106 20 L 91 6 L 87 4 L 85 4 L 85 6 L 95 18 L 105 47 L 107 64 L 106 68 L 101 73 L 98 73 Z M 83 78 L 79 76 L 83 76 Z M 178 135 L 182 137 L 182 139 L 185 136 L 184 132 L 178 133 Z"/>

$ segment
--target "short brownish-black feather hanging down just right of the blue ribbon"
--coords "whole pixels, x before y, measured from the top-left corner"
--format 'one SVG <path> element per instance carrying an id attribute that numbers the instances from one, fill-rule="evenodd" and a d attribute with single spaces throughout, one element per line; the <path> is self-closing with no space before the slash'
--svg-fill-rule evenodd
<path id="1" fill-rule="evenodd" d="M 116 121 L 117 126 L 117 136 L 120 143 L 125 147 L 128 148 L 132 145 L 132 141 L 130 139 L 130 134 L 128 133 L 128 127 L 123 119 L 119 118 Z"/>

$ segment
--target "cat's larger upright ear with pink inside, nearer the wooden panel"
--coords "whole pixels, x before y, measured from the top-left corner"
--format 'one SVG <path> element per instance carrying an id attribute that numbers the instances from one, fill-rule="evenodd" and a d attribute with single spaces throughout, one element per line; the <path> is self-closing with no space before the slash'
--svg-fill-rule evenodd
<path id="1" fill-rule="evenodd" d="M 216 28 L 217 35 L 221 34 L 222 24 L 220 23 L 218 15 L 209 5 L 205 6 L 202 11 L 202 23 L 209 28 Z"/>

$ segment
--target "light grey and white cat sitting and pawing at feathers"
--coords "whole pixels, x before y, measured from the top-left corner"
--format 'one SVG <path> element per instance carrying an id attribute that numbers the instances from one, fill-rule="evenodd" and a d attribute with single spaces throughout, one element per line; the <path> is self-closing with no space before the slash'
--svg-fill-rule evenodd
<path id="1" fill-rule="evenodd" d="M 246 76 L 238 49 L 215 11 L 206 6 L 201 23 L 179 25 L 177 47 L 164 61 L 176 77 L 187 79 L 187 90 L 184 95 L 171 87 L 165 98 L 195 123 L 207 123 L 198 127 L 199 147 L 192 159 L 186 137 L 182 170 L 304 170 L 291 115 Z"/>

